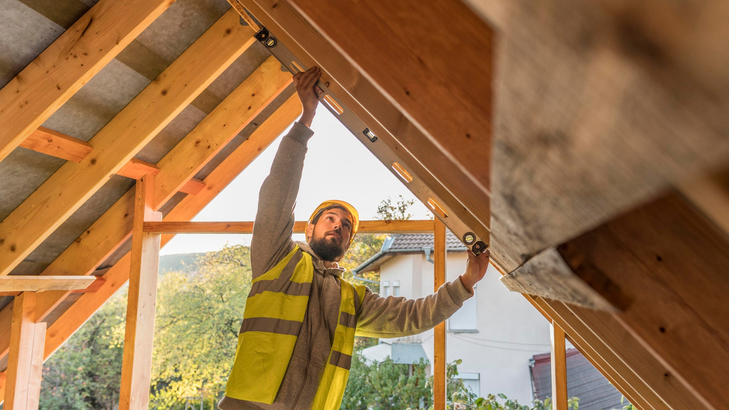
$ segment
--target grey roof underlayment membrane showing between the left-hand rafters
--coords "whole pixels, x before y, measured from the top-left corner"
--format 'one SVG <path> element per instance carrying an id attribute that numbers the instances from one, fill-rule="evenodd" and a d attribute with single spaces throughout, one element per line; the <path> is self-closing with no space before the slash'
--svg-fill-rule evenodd
<path id="1" fill-rule="evenodd" d="M 93 0 L 0 0 L 0 87 L 25 68 L 93 4 Z M 84 141 L 90 140 L 229 8 L 225 0 L 176 1 L 47 119 L 43 126 Z M 257 42 L 253 44 L 135 157 L 152 163 L 162 159 L 269 56 L 265 47 Z M 293 92 L 293 87 L 283 92 L 195 177 L 204 179 Z M 64 162 L 63 159 L 28 149 L 17 148 L 12 151 L 0 162 L 0 180 L 12 181 L 12 184 L 0 185 L 0 219 L 7 217 Z M 133 185 L 134 181 L 130 178 L 110 178 L 26 260 L 13 269 L 11 275 L 37 275 L 42 272 Z M 185 195 L 176 194 L 163 207 L 163 213 L 173 208 Z M 95 275 L 103 274 L 104 269 L 112 266 L 129 248 L 130 243 L 122 245 L 104 261 Z M 49 324 L 77 297 L 79 295 L 67 299 L 52 312 L 48 317 Z M 0 308 L 10 301 L 12 296 L 0 298 Z M 0 368 L 3 367 L 5 364 L 0 363 Z"/>

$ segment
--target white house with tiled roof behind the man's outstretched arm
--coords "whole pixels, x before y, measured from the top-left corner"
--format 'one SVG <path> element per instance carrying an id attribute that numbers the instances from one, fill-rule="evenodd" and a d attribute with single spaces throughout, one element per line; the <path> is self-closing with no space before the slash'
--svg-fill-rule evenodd
<path id="1" fill-rule="evenodd" d="M 466 268 L 466 248 L 448 232 L 447 280 Z M 379 270 L 384 296 L 419 298 L 433 293 L 432 234 L 388 237 L 382 251 L 356 269 L 356 275 Z M 477 284 L 475 296 L 446 323 L 448 362 L 462 359 L 459 374 L 474 393 L 503 393 L 527 404 L 533 399 L 530 360 L 550 351 L 549 323 L 519 293 L 499 283 L 499 272 L 489 267 Z M 373 286 L 376 288 L 376 285 Z M 375 289 L 376 290 L 376 289 Z M 399 339 L 381 339 L 364 350 L 368 360 L 391 356 L 396 363 L 433 360 L 433 331 Z"/>

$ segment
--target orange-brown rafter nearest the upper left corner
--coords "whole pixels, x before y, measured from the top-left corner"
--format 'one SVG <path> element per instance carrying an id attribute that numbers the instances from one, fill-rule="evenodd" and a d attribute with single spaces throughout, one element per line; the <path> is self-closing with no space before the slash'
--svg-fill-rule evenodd
<path id="1" fill-rule="evenodd" d="M 0 90 L 0 160 L 124 50 L 171 0 L 101 0 Z"/>

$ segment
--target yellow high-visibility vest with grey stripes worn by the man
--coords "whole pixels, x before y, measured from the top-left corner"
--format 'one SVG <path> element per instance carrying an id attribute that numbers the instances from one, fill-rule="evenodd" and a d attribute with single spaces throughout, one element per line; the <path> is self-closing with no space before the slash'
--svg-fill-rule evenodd
<path id="1" fill-rule="evenodd" d="M 313 273 L 311 255 L 296 246 L 273 269 L 253 280 L 225 395 L 273 403 L 304 321 Z M 317 410 L 338 410 L 342 402 L 357 315 L 366 290 L 364 285 L 339 280 L 342 296 L 339 318 L 327 367 L 313 402 L 312 408 Z"/>

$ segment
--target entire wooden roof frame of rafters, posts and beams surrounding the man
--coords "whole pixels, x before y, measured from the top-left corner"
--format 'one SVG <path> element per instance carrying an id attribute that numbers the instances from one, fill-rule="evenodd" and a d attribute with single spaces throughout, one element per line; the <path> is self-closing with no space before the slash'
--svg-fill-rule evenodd
<path id="1" fill-rule="evenodd" d="M 189 221 L 300 114 L 281 71 L 292 62 L 262 63 L 157 164 L 134 156 L 262 26 L 304 66 L 322 68 L 328 90 L 385 147 L 383 164 L 436 211 L 436 221 L 363 221 L 361 232 L 434 232 L 437 288 L 443 224 L 467 229 L 492 245 L 502 282 L 552 323 L 555 410 L 566 406 L 565 338 L 638 409 L 725 407 L 729 47 L 712 20 L 726 15 L 719 2 L 691 12 L 576 0 L 230 2 L 90 141 L 41 125 L 173 1 L 98 1 L 0 90 L 0 159 L 20 146 L 67 160 L 0 222 L 0 294 L 15 296 L 0 310 L 6 409 L 37 406 L 39 363 L 127 280 L 120 406 L 144 407 L 159 248 L 174 234 L 252 231 L 250 222 Z M 568 14 L 570 25 L 553 24 Z M 482 16 L 499 29 L 496 74 L 496 31 Z M 196 180 L 280 95 L 289 98 Z M 6 276 L 114 175 L 141 181 L 39 277 Z M 160 218 L 179 192 L 187 196 Z M 133 250 L 98 271 L 130 237 Z M 443 325 L 434 372 L 443 410 Z"/>

